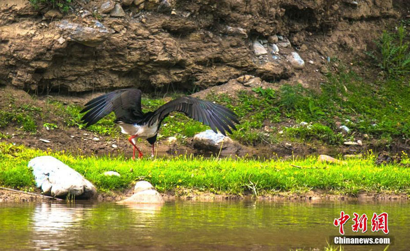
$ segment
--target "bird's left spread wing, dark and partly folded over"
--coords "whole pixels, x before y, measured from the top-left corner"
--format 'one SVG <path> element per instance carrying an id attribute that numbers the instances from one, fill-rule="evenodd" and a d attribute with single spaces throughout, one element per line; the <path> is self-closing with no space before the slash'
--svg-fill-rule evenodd
<path id="1" fill-rule="evenodd" d="M 81 121 L 86 127 L 97 123 L 114 111 L 117 120 L 132 120 L 135 117 L 142 117 L 141 110 L 141 91 L 137 89 L 122 89 L 109 92 L 105 95 L 88 102 L 86 107 L 80 111 L 84 114 Z"/>

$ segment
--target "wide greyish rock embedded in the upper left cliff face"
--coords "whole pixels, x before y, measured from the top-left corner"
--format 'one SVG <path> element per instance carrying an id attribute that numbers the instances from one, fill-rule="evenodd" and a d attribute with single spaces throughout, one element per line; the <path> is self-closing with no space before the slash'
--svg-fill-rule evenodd
<path id="1" fill-rule="evenodd" d="M 87 27 L 62 20 L 57 24 L 57 27 L 66 31 L 70 40 L 90 47 L 102 44 L 111 33 L 110 29 L 98 21 L 94 22 L 94 27 Z"/>

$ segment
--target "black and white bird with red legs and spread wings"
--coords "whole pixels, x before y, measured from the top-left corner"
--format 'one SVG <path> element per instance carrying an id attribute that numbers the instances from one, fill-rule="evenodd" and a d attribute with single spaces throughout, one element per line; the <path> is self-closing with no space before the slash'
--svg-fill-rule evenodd
<path id="1" fill-rule="evenodd" d="M 238 116 L 230 109 L 210 101 L 204 101 L 192 96 L 182 96 L 174 99 L 155 111 L 143 112 L 141 108 L 141 90 L 130 88 L 120 89 L 100 95 L 85 104 L 80 113 L 85 113 L 81 121 L 86 127 L 97 123 L 112 111 L 114 122 L 121 132 L 128 134 L 128 141 L 133 146 L 132 159 L 138 151 L 138 158 L 143 153 L 136 146 L 137 138 L 146 139 L 152 146 L 151 157 L 154 157 L 154 143 L 157 140 L 161 122 L 173 111 L 182 112 L 189 118 L 208 125 L 217 133 L 218 130 L 226 136 L 226 131 L 232 134 L 239 124 Z"/>

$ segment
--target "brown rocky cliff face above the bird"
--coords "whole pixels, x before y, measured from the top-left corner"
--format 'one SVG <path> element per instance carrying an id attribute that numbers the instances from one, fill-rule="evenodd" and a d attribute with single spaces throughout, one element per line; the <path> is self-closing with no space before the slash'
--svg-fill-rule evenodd
<path id="1" fill-rule="evenodd" d="M 327 56 L 363 52 L 358 42 L 383 29 L 375 20 L 397 15 L 392 0 L 73 2 L 61 15 L 2 1 L 1 83 L 83 92 L 203 89 L 243 74 L 288 80 L 320 74 Z"/>

